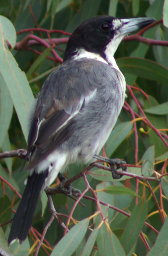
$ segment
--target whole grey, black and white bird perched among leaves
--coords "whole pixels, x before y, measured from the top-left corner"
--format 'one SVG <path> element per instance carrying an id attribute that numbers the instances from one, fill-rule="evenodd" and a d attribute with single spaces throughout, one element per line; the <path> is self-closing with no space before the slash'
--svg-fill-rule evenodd
<path id="1" fill-rule="evenodd" d="M 67 42 L 64 59 L 45 80 L 31 114 L 29 176 L 8 243 L 27 238 L 40 191 L 70 163 L 91 163 L 106 143 L 125 99 L 126 82 L 114 54 L 123 37 L 154 18 L 86 19 Z"/>

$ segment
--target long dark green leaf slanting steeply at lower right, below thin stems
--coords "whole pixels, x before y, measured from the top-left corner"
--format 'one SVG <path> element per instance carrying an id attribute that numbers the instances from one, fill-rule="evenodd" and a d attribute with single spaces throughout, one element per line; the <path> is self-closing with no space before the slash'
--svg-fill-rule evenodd
<path id="1" fill-rule="evenodd" d="M 147 203 L 144 198 L 142 198 L 128 219 L 128 223 L 124 229 L 120 242 L 124 247 L 126 254 L 133 248 L 135 242 L 139 237 L 139 233 L 144 225 L 147 215 Z"/>

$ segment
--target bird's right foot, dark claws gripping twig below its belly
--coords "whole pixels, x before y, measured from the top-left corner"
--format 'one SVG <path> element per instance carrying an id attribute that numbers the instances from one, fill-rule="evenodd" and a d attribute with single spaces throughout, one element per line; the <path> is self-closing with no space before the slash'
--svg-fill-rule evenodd
<path id="1" fill-rule="evenodd" d="M 93 158 L 96 158 L 98 160 L 102 160 L 102 161 L 110 164 L 113 179 L 119 179 L 123 176 L 123 174 L 119 174 L 117 172 L 117 170 L 119 168 L 121 168 L 122 171 L 124 171 L 124 172 L 127 171 L 127 167 L 123 166 L 123 165 L 126 164 L 126 162 L 120 160 L 119 158 L 106 158 L 106 157 L 102 157 L 102 156 L 98 156 L 98 155 L 94 155 Z"/>

